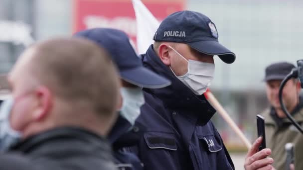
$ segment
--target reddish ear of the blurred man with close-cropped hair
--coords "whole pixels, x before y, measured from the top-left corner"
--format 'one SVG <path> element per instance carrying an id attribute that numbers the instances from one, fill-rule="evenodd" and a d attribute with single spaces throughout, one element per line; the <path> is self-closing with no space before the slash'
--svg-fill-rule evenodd
<path id="1" fill-rule="evenodd" d="M 34 121 L 40 121 L 50 113 L 53 107 L 53 96 L 48 88 L 41 86 L 36 89 L 35 97 L 38 102 L 32 118 Z"/>

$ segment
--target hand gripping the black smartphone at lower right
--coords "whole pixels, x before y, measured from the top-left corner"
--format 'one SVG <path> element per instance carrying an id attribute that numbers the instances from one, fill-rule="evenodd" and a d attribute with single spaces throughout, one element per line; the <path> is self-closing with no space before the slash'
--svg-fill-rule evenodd
<path id="1" fill-rule="evenodd" d="M 267 158 L 272 154 L 271 149 L 265 148 L 258 152 L 261 143 L 262 137 L 259 137 L 248 151 L 244 163 L 245 170 L 275 170 L 271 166 L 274 160 Z"/>

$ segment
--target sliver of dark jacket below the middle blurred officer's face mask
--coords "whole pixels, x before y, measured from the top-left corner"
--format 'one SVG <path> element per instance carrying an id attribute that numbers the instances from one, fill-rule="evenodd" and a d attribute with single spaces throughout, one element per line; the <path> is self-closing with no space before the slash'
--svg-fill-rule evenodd
<path id="1" fill-rule="evenodd" d="M 127 152 L 124 148 L 136 144 L 137 140 L 134 138 L 123 137 L 128 131 L 132 129 L 132 125 L 119 115 L 114 127 L 108 135 L 108 139 L 112 144 L 113 155 L 115 158 L 115 165 L 118 170 L 143 170 L 139 158 Z"/>

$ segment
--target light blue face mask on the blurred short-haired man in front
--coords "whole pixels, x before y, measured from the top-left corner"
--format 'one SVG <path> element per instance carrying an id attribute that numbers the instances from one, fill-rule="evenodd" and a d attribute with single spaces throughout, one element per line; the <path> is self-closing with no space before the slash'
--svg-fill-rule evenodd
<path id="1" fill-rule="evenodd" d="M 9 147 L 16 144 L 21 134 L 13 130 L 9 123 L 10 111 L 13 106 L 13 98 L 4 100 L 0 106 L 0 151 L 7 151 Z"/>

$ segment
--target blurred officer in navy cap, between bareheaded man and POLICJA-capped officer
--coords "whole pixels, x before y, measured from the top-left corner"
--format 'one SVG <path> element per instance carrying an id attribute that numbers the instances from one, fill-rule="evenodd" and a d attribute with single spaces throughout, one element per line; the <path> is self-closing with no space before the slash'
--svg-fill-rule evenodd
<path id="1" fill-rule="evenodd" d="M 120 30 L 111 28 L 93 28 L 80 31 L 75 36 L 82 36 L 95 41 L 106 48 L 118 66 L 121 76 L 122 102 L 119 106 L 120 116 L 109 134 L 116 166 L 121 170 L 142 170 L 142 164 L 136 155 L 124 152 L 123 148 L 135 145 L 136 140 L 122 137 L 132 129 L 144 104 L 142 88 L 160 88 L 170 82 L 143 67 L 138 55 L 130 43 L 129 37 Z"/>

